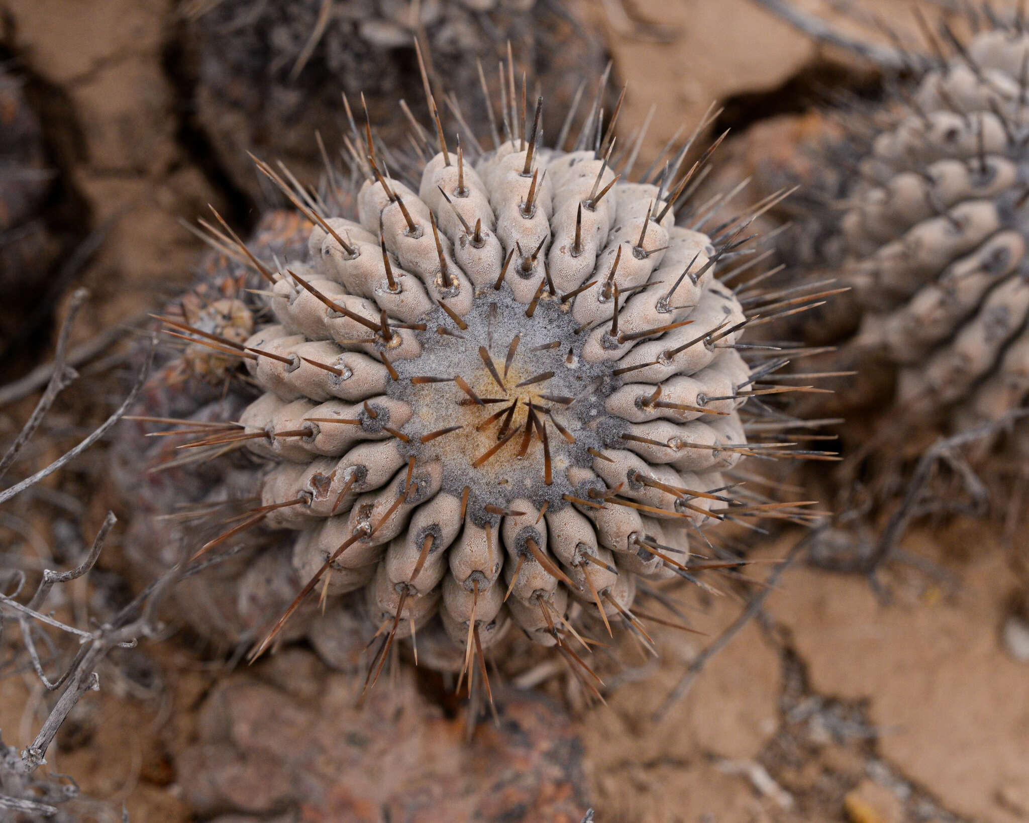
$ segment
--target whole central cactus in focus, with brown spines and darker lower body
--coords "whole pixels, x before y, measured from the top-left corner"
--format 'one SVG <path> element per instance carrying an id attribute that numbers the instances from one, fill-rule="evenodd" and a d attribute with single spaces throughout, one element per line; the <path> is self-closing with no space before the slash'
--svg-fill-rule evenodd
<path id="1" fill-rule="evenodd" d="M 415 179 L 391 176 L 370 127 L 355 129 L 356 219 L 258 162 L 311 221 L 307 253 L 251 250 L 218 229 L 262 286 L 208 283 L 207 310 L 166 318 L 189 347 L 139 418 L 182 418 L 193 439 L 150 467 L 157 550 L 263 548 L 221 567 L 236 585 L 198 607 L 199 628 L 214 622 L 201 608 L 220 602 L 223 622 L 235 604 L 255 653 L 285 631 L 336 661 L 378 635 L 374 682 L 402 639 L 433 667 L 485 675 L 484 652 L 517 627 L 590 673 L 569 645 L 576 623 L 646 639 L 633 609 L 652 581 L 701 583 L 739 562 L 707 542 L 709 527 L 770 508 L 806 517 L 735 488 L 744 455 L 791 456 L 781 435 L 807 425 L 743 408 L 781 391 L 768 383 L 778 360 L 738 344 L 759 308 L 745 312 L 715 277 L 752 253 L 749 216 L 710 235 L 676 225 L 699 168 L 682 164 L 688 144 L 655 182 L 628 182 L 635 149 L 614 153 L 603 82 L 565 150 L 574 111 L 545 147 L 542 98 L 527 116 L 510 64 L 505 74 L 504 136 L 474 159 L 447 140 L 431 97 L 437 142 L 418 132 Z M 171 375 L 200 386 L 198 372 L 214 385 L 168 392 Z M 748 444 L 748 428 L 767 441 Z M 183 497 L 192 514 L 172 511 Z M 247 498 L 207 542 L 185 528 Z M 140 520 L 137 542 L 152 541 L 155 521 Z M 151 544 L 134 551 L 153 559 Z"/>

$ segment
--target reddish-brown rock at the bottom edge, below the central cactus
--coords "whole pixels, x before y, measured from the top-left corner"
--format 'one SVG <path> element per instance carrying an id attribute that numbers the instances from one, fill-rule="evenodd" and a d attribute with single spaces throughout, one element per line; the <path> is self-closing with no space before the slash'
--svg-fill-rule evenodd
<path id="1" fill-rule="evenodd" d="M 202 819 L 288 811 L 304 823 L 578 823 L 584 814 L 582 745 L 545 697 L 495 688 L 499 724 L 484 721 L 466 743 L 463 719 L 420 693 L 405 666 L 361 705 L 363 673 L 288 655 L 308 681 L 303 699 L 270 682 L 283 677 L 273 659 L 205 701 L 199 739 L 177 764 Z"/>

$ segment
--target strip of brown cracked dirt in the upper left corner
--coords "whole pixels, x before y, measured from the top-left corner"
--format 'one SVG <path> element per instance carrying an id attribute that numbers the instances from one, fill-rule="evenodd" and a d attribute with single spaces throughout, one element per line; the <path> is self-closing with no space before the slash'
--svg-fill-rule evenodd
<path id="1" fill-rule="evenodd" d="M 172 0 L 4 0 L 8 43 L 70 104 L 70 184 L 93 226 L 110 232 L 83 280 L 93 290 L 85 337 L 188 282 L 193 220 L 222 199 L 179 141 L 177 100 L 163 65 L 175 32 Z M 222 207 L 223 208 L 223 207 Z"/>

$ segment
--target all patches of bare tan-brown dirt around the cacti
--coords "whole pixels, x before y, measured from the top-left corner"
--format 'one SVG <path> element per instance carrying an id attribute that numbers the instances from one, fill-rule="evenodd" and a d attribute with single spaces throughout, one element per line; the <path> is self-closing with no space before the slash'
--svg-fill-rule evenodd
<path id="1" fill-rule="evenodd" d="M 899 13 L 891 0 L 868 5 Z M 636 21 L 678 27 L 672 42 L 654 43 L 605 24 L 617 69 L 631 81 L 623 122 L 659 104 L 644 154 L 714 98 L 759 95 L 775 104 L 776 90 L 797 75 L 810 80 L 827 61 L 855 82 L 867 78 L 746 0 L 627 6 Z M 177 31 L 172 0 L 2 0 L 0 7 L 5 45 L 70 102 L 78 142 L 64 160 L 88 205 L 87 227 L 114 218 L 83 278 L 94 289 L 77 331 L 84 338 L 185 281 L 197 245 L 177 220 L 193 219 L 207 202 L 220 208 L 226 192 L 183 138 L 185 101 L 165 62 Z M 776 105 L 789 110 L 796 101 Z M 3 409 L 3 430 L 29 407 Z M 104 505 L 103 492 L 86 500 L 91 522 Z M 1000 641 L 1017 580 L 999 538 L 963 524 L 920 531 L 904 548 L 959 582 L 899 567 L 883 603 L 861 578 L 793 570 L 761 619 L 660 723 L 650 713 L 707 639 L 655 633 L 662 664 L 634 672 L 647 679 L 628 679 L 608 708 L 576 709 L 598 823 L 1029 820 L 1029 670 Z M 697 627 L 712 636 L 740 608 L 730 599 L 695 602 Z M 114 667 L 102 672 L 102 690 L 84 699 L 51 767 L 73 774 L 93 796 L 125 800 L 134 821 L 190 819 L 196 786 L 183 784 L 177 758 L 205 733 L 199 710 L 219 679 L 200 651 L 180 637 L 135 652 L 159 673 L 159 697 L 142 700 Z M 561 695 L 563 683 L 546 688 Z M 25 707 L 35 693 L 31 678 L 0 681 L 8 742 L 26 742 L 33 726 Z"/>

